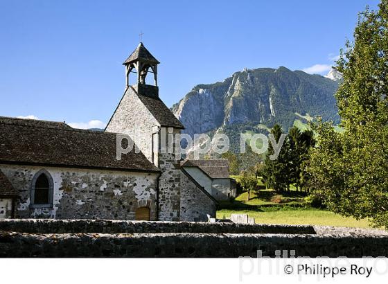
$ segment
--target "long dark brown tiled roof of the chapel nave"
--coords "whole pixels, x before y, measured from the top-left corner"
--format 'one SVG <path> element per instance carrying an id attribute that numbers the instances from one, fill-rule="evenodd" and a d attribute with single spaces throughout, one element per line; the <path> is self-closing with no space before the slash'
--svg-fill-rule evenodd
<path id="1" fill-rule="evenodd" d="M 142 153 L 116 159 L 116 134 L 0 117 L 0 163 L 159 171 Z"/>

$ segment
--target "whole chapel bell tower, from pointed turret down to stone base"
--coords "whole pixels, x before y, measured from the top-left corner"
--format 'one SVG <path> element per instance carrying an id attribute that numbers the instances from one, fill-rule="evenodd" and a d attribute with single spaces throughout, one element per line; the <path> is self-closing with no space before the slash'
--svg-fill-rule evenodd
<path id="1" fill-rule="evenodd" d="M 184 125 L 159 98 L 158 64 L 143 43 L 125 60 L 126 88 L 105 131 L 129 135 L 139 154 L 159 168 L 157 220 L 179 221 L 182 171 L 175 141 Z"/>

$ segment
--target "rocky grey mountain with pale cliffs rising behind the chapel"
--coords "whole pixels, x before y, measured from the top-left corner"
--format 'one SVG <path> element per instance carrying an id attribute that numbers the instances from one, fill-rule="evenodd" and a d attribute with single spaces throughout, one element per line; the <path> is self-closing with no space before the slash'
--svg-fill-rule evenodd
<path id="1" fill-rule="evenodd" d="M 339 121 L 333 94 L 338 81 L 303 71 L 244 69 L 222 82 L 197 85 L 172 110 L 184 133 L 287 131 L 297 120 L 321 116 Z"/>

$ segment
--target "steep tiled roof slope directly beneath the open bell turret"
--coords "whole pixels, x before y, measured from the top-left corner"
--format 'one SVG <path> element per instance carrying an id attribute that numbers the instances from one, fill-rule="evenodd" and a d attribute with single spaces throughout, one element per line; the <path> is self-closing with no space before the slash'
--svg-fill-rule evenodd
<path id="1" fill-rule="evenodd" d="M 135 93 L 135 89 L 131 86 Z M 184 126 L 179 121 L 179 119 L 171 112 L 170 109 L 163 103 L 163 101 L 159 97 L 150 97 L 144 96 L 136 93 L 141 102 L 147 107 L 152 116 L 155 117 L 158 123 L 161 126 L 170 126 L 175 128 L 184 129 Z"/>

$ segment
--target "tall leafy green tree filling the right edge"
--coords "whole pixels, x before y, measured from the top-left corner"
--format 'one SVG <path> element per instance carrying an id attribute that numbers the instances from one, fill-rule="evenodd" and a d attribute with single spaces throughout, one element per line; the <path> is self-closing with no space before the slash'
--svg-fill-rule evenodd
<path id="1" fill-rule="evenodd" d="M 360 13 L 354 42 L 346 42 L 335 69 L 343 74 L 335 98 L 344 132 L 317 123 L 310 187 L 328 208 L 371 218 L 388 228 L 388 0 Z"/>

